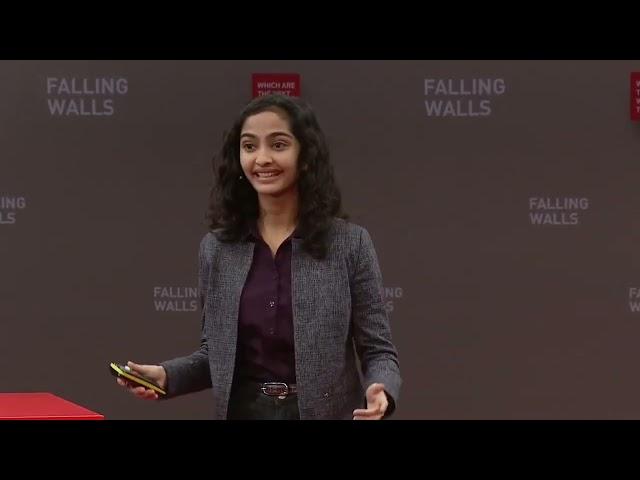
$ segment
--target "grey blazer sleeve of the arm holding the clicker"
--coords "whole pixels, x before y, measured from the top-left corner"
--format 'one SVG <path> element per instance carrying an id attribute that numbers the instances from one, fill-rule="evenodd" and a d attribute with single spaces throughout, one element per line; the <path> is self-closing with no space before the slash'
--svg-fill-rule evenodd
<path id="1" fill-rule="evenodd" d="M 211 278 L 211 264 L 215 251 L 215 237 L 208 233 L 200 242 L 198 291 L 202 312 L 200 348 L 186 357 L 167 360 L 160 365 L 167 372 L 166 398 L 197 392 L 211 387 L 209 371 L 209 349 L 205 335 L 207 292 Z"/>

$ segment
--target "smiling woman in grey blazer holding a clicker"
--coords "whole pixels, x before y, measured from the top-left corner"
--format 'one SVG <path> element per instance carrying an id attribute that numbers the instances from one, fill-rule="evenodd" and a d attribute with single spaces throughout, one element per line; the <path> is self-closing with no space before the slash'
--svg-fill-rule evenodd
<path id="1" fill-rule="evenodd" d="M 167 398 L 212 387 L 219 419 L 390 415 L 401 378 L 378 260 L 367 231 L 341 214 L 313 111 L 254 99 L 220 160 L 200 245 L 200 349 L 129 367 Z"/>

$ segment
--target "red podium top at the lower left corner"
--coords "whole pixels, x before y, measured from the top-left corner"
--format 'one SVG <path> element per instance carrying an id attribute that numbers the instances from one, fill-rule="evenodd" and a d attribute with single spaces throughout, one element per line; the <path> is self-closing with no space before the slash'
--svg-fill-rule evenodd
<path id="1" fill-rule="evenodd" d="M 51 393 L 0 393 L 0 420 L 104 420 Z"/>

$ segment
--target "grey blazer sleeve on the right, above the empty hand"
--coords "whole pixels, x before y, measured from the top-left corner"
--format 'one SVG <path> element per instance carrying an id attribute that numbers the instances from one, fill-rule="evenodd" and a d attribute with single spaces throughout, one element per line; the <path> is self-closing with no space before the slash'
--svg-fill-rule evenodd
<path id="1" fill-rule="evenodd" d="M 362 228 L 351 288 L 354 343 L 365 389 L 372 383 L 385 386 L 389 398 L 388 416 L 400 397 L 402 378 L 382 291 L 382 273 L 376 251 L 371 236 Z"/>

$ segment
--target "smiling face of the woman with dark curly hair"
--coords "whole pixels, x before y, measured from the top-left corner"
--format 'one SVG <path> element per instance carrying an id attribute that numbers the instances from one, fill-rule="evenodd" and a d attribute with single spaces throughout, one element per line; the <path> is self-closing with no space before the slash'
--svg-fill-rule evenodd
<path id="1" fill-rule="evenodd" d="M 247 117 L 240 132 L 240 165 L 258 195 L 295 192 L 300 143 L 281 109 Z"/>

